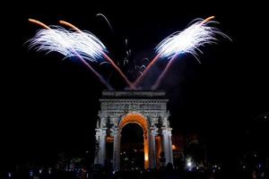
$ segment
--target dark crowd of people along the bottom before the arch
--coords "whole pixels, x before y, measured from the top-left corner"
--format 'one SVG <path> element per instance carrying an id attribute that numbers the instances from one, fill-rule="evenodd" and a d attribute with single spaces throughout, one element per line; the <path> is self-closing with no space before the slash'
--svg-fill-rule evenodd
<path id="1" fill-rule="evenodd" d="M 158 169 L 124 168 L 113 171 L 110 167 L 93 166 L 89 170 L 77 169 L 74 171 L 63 170 L 20 170 L 14 173 L 7 173 L 1 179 L 263 179 L 268 177 L 268 171 L 257 170 L 225 171 L 215 169 L 204 169 L 194 167 L 175 168 L 172 164 Z"/>

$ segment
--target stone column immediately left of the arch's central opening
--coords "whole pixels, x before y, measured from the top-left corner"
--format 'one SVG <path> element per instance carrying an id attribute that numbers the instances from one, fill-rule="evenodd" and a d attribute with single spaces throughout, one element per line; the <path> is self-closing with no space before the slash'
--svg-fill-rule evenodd
<path id="1" fill-rule="evenodd" d="M 119 170 L 120 168 L 120 138 L 121 138 L 121 132 L 116 129 L 113 132 L 114 137 L 114 143 L 113 143 L 113 169 Z"/>

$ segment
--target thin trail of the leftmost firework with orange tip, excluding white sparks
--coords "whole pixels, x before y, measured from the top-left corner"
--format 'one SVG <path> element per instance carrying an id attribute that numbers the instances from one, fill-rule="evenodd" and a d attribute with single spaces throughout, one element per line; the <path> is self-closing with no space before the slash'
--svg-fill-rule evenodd
<path id="1" fill-rule="evenodd" d="M 42 23 L 41 21 L 37 21 L 37 20 L 33 20 L 33 19 L 29 19 L 29 21 L 32 22 L 32 23 L 38 24 L 38 25 L 41 26 L 42 28 L 45 28 L 45 29 L 47 29 L 47 30 L 51 30 L 51 29 L 48 27 L 48 25 Z M 82 58 L 82 56 L 79 55 L 75 50 L 73 50 L 73 51 L 74 51 L 74 54 L 75 54 L 77 57 L 79 57 L 79 59 L 80 59 L 80 61 L 82 62 L 82 64 L 84 64 L 85 66 L 87 66 L 87 67 L 91 70 L 91 72 L 93 72 L 93 73 L 99 78 L 99 80 L 100 80 L 100 81 L 101 81 L 101 82 L 108 88 L 108 90 L 112 90 L 112 89 L 113 89 L 113 88 L 108 84 L 108 82 L 105 81 L 105 80 L 103 79 L 103 77 L 100 75 L 99 72 L 96 72 L 96 71 L 91 67 L 91 65 L 88 64 L 88 63 Z"/>

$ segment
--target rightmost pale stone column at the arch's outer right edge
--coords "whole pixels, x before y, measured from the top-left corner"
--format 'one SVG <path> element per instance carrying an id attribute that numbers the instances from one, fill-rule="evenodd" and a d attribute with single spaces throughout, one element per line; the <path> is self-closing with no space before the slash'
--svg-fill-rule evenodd
<path id="1" fill-rule="evenodd" d="M 165 163 L 173 164 L 173 150 L 172 150 L 172 140 L 171 140 L 171 128 L 162 127 L 162 149 L 164 152 Z"/>

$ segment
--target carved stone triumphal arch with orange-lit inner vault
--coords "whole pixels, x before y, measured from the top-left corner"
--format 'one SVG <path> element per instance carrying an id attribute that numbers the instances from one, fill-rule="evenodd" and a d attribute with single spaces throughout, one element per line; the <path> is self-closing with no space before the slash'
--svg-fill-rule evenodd
<path id="1" fill-rule="evenodd" d="M 110 142 L 113 146 L 113 169 L 120 169 L 121 132 L 126 124 L 139 124 L 143 128 L 145 169 L 156 168 L 161 154 L 165 164 L 173 163 L 168 101 L 164 91 L 102 91 L 99 119 L 95 129 L 94 163 L 105 164 L 108 159 L 107 144 Z"/>

